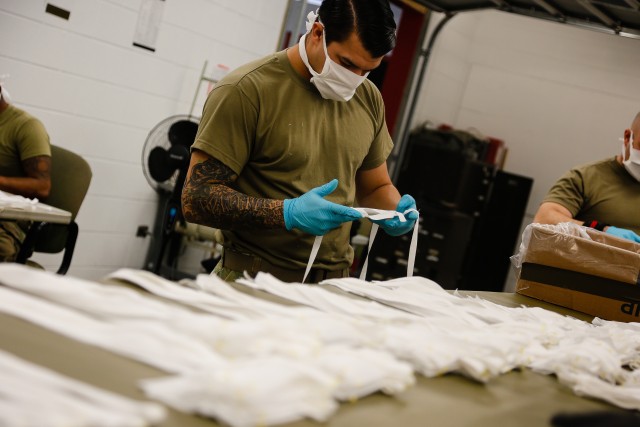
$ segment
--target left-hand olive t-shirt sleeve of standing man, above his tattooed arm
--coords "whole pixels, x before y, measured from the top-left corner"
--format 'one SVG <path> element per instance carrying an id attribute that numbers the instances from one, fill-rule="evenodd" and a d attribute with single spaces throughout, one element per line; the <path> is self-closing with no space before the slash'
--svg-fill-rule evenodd
<path id="1" fill-rule="evenodd" d="M 257 107 L 237 85 L 214 88 L 207 97 L 192 149 L 202 150 L 240 174 L 255 140 Z"/>

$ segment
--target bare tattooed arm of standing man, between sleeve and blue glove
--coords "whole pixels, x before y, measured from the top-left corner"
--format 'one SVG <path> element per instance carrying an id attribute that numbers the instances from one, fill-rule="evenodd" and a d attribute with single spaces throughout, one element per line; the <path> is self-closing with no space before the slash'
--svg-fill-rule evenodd
<path id="1" fill-rule="evenodd" d="M 236 179 L 224 163 L 194 150 L 182 189 L 184 218 L 224 230 L 284 228 L 283 201 L 239 193 L 229 187 Z"/>

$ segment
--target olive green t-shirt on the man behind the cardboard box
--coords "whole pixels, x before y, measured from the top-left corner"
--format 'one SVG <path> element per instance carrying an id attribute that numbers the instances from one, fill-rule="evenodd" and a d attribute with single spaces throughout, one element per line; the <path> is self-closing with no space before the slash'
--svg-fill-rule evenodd
<path id="1" fill-rule="evenodd" d="M 580 221 L 596 220 L 640 234 L 640 182 L 615 157 L 571 169 L 543 202 L 564 206 Z"/>

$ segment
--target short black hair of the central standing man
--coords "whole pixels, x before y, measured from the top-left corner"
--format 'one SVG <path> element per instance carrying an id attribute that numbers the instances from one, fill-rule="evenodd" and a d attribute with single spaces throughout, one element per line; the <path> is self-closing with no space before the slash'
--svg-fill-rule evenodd
<path id="1" fill-rule="evenodd" d="M 389 0 L 324 0 L 318 11 L 327 44 L 343 42 L 352 32 L 374 58 L 396 45 L 396 22 Z"/>

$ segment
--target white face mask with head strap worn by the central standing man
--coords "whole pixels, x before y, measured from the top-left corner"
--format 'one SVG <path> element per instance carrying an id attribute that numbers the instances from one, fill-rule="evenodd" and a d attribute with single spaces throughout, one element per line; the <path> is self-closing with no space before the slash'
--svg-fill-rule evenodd
<path id="1" fill-rule="evenodd" d="M 324 66 L 322 71 L 317 73 L 309 64 L 309 58 L 307 57 L 307 50 L 305 47 L 305 41 L 307 35 L 311 32 L 313 23 L 316 21 L 317 14 L 315 12 L 309 12 L 307 15 L 307 32 L 300 38 L 299 48 L 300 57 L 302 62 L 306 65 L 307 69 L 311 73 L 311 83 L 320 92 L 320 95 L 324 99 L 330 99 L 333 101 L 349 101 L 356 93 L 358 86 L 364 82 L 369 73 L 364 76 L 359 76 L 353 73 L 340 64 L 334 62 L 327 52 L 327 33 L 326 29 L 322 34 L 322 44 L 324 47 Z M 320 22 L 322 24 L 322 22 Z"/>

